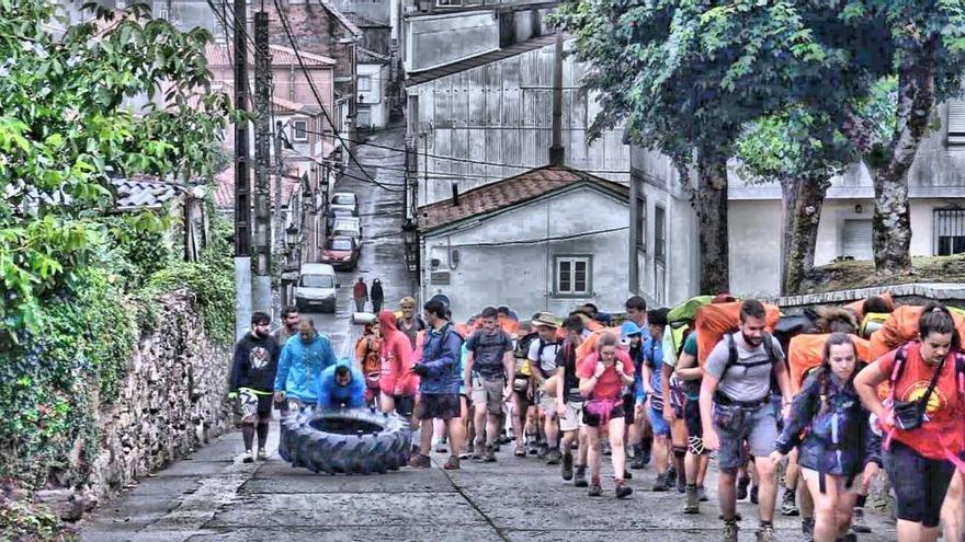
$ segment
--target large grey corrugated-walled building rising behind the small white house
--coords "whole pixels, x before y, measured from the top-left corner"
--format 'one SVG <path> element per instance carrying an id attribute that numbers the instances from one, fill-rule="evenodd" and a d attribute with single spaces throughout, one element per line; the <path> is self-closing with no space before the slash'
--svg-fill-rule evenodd
<path id="1" fill-rule="evenodd" d="M 419 205 L 549 163 L 555 36 L 542 36 L 418 73 L 408 73 L 409 136 L 419 160 Z M 581 85 L 587 67 L 565 48 L 561 145 L 565 164 L 629 180 L 629 147 L 616 130 L 587 141 L 597 114 Z"/>

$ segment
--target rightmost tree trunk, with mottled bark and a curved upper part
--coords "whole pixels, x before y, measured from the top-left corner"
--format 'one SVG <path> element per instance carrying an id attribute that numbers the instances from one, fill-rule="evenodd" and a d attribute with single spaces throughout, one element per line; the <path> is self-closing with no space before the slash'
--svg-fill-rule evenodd
<path id="1" fill-rule="evenodd" d="M 910 56 L 898 74 L 898 124 L 887 162 L 872 171 L 875 191 L 874 260 L 879 275 L 911 270 L 908 170 L 928 131 L 934 105 L 934 45 Z"/>

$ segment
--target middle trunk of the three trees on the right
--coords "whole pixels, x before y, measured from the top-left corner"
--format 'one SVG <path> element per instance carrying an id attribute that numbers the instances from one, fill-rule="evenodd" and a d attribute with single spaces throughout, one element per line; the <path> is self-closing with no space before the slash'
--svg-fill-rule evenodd
<path id="1" fill-rule="evenodd" d="M 781 181 L 784 224 L 781 245 L 781 293 L 801 293 L 801 284 L 814 268 L 815 247 L 825 195 L 830 183 L 822 174 Z"/>

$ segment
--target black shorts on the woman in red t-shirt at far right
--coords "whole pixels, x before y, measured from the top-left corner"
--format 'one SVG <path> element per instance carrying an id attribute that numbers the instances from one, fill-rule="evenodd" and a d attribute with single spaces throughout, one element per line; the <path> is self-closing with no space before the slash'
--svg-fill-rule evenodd
<path id="1" fill-rule="evenodd" d="M 892 442 L 884 460 L 897 496 L 898 519 L 938 527 L 955 465 L 951 461 L 924 458 L 898 441 Z"/>

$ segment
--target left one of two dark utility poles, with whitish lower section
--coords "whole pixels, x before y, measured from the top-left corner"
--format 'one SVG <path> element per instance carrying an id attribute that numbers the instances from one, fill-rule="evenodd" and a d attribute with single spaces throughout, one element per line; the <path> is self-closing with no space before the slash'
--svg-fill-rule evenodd
<path id="1" fill-rule="evenodd" d="M 245 41 L 247 1 L 235 0 L 235 338 L 251 321 L 251 186 L 248 177 L 248 47 Z"/>

